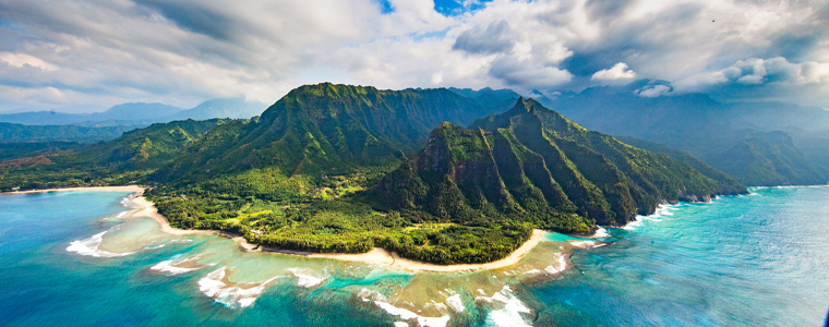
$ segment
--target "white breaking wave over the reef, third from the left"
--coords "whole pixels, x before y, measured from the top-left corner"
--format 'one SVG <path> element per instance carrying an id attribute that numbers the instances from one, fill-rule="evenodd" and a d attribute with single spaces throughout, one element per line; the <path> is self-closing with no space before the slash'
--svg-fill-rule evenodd
<path id="1" fill-rule="evenodd" d="M 251 306 L 251 304 L 262 295 L 265 288 L 279 278 L 277 276 L 259 283 L 235 283 L 226 279 L 226 268 L 227 267 L 221 267 L 213 270 L 200 279 L 199 291 L 208 298 L 213 298 L 216 302 L 230 307 L 233 307 L 235 305 L 239 305 L 240 307 Z"/>

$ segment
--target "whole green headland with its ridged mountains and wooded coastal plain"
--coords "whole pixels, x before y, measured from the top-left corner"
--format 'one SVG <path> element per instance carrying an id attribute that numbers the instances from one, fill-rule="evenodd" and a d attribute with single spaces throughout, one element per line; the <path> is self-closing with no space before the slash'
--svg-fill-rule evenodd
<path id="1" fill-rule="evenodd" d="M 587 233 L 745 187 L 510 94 L 319 84 L 250 120 L 177 121 L 2 162 L 0 190 L 140 183 L 173 227 L 437 264 L 507 256 L 533 228 Z M 733 181 L 731 181 L 733 182 Z"/>

